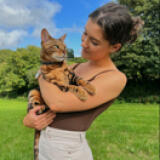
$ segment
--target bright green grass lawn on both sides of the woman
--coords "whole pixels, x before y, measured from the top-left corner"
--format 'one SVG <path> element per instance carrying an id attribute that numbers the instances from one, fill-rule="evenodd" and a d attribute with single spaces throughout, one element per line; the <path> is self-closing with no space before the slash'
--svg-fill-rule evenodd
<path id="1" fill-rule="evenodd" d="M 23 126 L 26 100 L 0 99 L 0 160 L 32 160 L 33 129 Z M 156 104 L 113 104 L 87 132 L 94 160 L 158 160 Z"/>

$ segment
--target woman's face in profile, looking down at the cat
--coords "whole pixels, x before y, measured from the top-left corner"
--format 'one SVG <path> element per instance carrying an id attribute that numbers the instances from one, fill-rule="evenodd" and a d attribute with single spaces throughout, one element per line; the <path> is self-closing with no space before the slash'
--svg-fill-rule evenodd
<path id="1" fill-rule="evenodd" d="M 106 58 L 112 52 L 112 46 L 104 39 L 102 29 L 91 19 L 85 26 L 81 46 L 82 57 L 88 60 Z"/>

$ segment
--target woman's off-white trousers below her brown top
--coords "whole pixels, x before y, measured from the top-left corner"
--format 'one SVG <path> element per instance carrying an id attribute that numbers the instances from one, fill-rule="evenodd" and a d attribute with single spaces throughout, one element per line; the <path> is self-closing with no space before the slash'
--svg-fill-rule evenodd
<path id="1" fill-rule="evenodd" d="M 41 131 L 39 160 L 93 160 L 85 132 L 47 127 Z"/>

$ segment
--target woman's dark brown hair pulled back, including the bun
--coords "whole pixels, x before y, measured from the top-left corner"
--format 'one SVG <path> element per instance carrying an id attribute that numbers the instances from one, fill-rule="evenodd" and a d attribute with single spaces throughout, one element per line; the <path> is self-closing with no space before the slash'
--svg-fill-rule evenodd
<path id="1" fill-rule="evenodd" d="M 144 24 L 140 17 L 132 17 L 125 6 L 113 2 L 98 8 L 89 18 L 103 29 L 104 38 L 112 45 L 134 42 Z"/>

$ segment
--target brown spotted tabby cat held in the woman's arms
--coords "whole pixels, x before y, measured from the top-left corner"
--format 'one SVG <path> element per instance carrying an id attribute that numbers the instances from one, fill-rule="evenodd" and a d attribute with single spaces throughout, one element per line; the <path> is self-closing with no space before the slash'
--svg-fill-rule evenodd
<path id="1" fill-rule="evenodd" d="M 87 95 L 84 90 L 90 95 L 95 94 L 95 88 L 82 78 L 76 76 L 74 72 L 68 68 L 66 58 L 66 46 L 64 39 L 66 35 L 59 39 L 52 38 L 46 29 L 41 31 L 41 66 L 38 72 L 37 78 L 42 75 L 45 80 L 56 85 L 61 91 L 72 92 L 81 101 L 87 99 Z M 81 87 L 83 87 L 83 89 Z M 42 114 L 49 108 L 43 101 L 40 90 L 33 89 L 28 95 L 28 111 L 37 105 L 43 105 L 45 107 L 37 114 Z M 34 160 L 38 160 L 38 145 L 39 145 L 40 131 L 35 131 L 34 139 Z"/>

